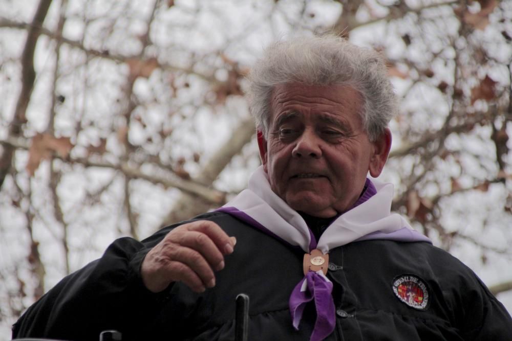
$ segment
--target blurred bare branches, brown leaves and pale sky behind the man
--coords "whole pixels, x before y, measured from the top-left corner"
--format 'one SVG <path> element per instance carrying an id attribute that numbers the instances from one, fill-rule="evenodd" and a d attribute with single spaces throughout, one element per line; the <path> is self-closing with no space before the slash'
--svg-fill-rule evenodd
<path id="1" fill-rule="evenodd" d="M 0 0 L 0 339 L 114 238 L 244 189 L 244 76 L 323 32 L 388 60 L 393 209 L 512 311 L 511 1 Z"/>

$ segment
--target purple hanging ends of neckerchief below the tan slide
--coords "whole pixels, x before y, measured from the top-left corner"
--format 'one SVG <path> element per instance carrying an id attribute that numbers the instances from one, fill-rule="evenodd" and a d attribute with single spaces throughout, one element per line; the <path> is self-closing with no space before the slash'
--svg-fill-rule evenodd
<path id="1" fill-rule="evenodd" d="M 307 287 L 303 291 L 304 281 Z M 306 304 L 314 300 L 316 321 L 310 341 L 323 340 L 334 330 L 336 317 L 331 292 L 332 283 L 329 280 L 314 271 L 309 271 L 305 279 L 299 282 L 291 293 L 289 304 L 295 330 L 298 330 L 298 325 L 301 323 Z"/>

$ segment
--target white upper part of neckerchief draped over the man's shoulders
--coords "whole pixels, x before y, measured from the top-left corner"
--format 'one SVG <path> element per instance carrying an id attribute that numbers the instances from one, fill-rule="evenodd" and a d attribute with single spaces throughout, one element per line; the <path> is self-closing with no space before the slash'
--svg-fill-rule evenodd
<path id="1" fill-rule="evenodd" d="M 359 206 L 336 218 L 322 234 L 316 248 L 324 254 L 330 249 L 355 240 L 389 239 L 400 241 L 428 241 L 413 230 L 397 213 L 391 213 L 393 185 L 372 180 L 377 193 Z M 311 234 L 296 211 L 270 188 L 268 176 L 260 166 L 249 178 L 249 188 L 226 203 L 234 207 L 291 245 L 300 246 L 309 253 Z"/>

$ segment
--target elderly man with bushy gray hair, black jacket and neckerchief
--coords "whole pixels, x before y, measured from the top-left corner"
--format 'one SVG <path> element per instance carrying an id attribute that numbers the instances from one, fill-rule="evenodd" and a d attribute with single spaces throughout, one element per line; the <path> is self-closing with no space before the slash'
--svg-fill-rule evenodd
<path id="1" fill-rule="evenodd" d="M 510 340 L 473 272 L 390 213 L 376 177 L 397 111 L 379 55 L 333 37 L 269 47 L 247 90 L 263 165 L 215 212 L 116 240 L 28 309 L 13 335 L 232 340 Z M 236 246 L 235 246 L 236 244 Z"/>

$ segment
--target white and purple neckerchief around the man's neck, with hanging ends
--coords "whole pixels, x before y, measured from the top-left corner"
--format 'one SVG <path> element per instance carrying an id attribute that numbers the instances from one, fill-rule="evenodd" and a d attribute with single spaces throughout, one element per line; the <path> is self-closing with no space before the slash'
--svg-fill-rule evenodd
<path id="1" fill-rule="evenodd" d="M 248 189 L 217 211 L 233 215 L 274 238 L 301 247 L 305 253 L 317 248 L 327 254 L 330 249 L 359 240 L 430 242 L 399 214 L 391 213 L 392 199 L 392 184 L 367 179 L 367 191 L 316 241 L 301 215 L 272 191 L 268 176 L 260 166 L 249 178 Z M 311 341 L 322 340 L 334 330 L 336 319 L 331 292 L 332 283 L 322 271 L 309 271 L 290 295 L 290 313 L 297 330 L 306 304 L 311 301 L 315 304 L 316 321 Z"/>

